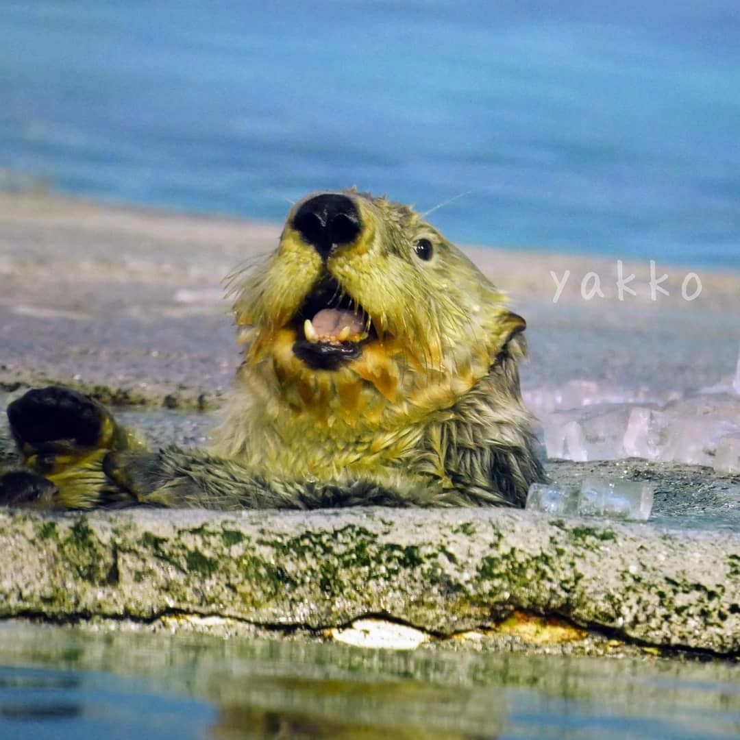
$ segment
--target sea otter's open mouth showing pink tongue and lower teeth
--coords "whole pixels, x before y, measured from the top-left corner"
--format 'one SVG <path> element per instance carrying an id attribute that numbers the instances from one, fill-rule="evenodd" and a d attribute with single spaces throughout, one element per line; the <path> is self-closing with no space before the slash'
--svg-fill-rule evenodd
<path id="1" fill-rule="evenodd" d="M 327 277 L 306 296 L 293 322 L 299 339 L 294 354 L 317 370 L 336 370 L 360 357 L 363 343 L 375 336 L 369 315 Z"/>

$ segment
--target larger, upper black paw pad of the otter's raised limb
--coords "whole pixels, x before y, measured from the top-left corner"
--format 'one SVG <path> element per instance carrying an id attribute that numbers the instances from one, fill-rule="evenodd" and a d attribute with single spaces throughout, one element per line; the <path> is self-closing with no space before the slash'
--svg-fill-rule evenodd
<path id="1" fill-rule="evenodd" d="M 27 457 L 110 447 L 115 431 L 104 406 L 70 388 L 28 391 L 7 407 L 10 430 Z"/>

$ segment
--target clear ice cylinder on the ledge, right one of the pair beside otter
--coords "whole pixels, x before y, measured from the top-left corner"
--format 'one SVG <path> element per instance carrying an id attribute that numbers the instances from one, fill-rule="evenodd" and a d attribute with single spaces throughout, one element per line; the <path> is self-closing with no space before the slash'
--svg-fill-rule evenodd
<path id="1" fill-rule="evenodd" d="M 578 513 L 582 517 L 645 522 L 652 508 L 653 486 L 645 482 L 589 477 L 579 492 Z"/>

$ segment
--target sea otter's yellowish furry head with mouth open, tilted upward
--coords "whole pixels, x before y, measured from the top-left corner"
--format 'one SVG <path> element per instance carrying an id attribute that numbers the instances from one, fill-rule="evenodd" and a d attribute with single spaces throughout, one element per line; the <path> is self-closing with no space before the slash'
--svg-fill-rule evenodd
<path id="1" fill-rule="evenodd" d="M 525 328 L 422 216 L 354 189 L 296 203 L 276 251 L 232 287 L 253 393 L 329 425 L 443 414 Z"/>

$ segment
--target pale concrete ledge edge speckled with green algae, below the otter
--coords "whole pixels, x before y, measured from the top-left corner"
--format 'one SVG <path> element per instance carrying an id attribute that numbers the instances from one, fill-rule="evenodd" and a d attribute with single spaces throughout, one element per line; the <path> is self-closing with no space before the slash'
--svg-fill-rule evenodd
<path id="1" fill-rule="evenodd" d="M 513 610 L 656 647 L 740 653 L 740 536 L 502 509 L 0 513 L 0 616 L 172 614 L 437 636 Z"/>

